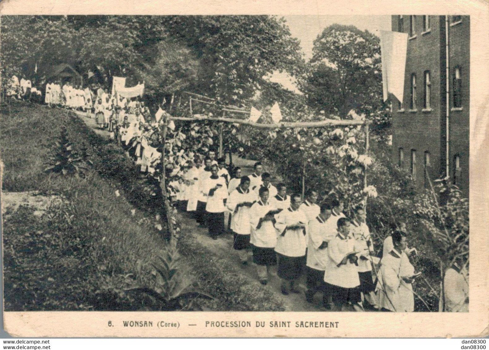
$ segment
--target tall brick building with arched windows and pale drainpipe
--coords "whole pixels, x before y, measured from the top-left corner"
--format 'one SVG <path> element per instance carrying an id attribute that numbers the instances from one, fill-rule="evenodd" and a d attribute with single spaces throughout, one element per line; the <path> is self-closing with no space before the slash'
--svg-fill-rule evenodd
<path id="1" fill-rule="evenodd" d="M 392 16 L 408 33 L 404 97 L 393 100 L 392 161 L 418 187 L 446 174 L 445 16 Z M 470 16 L 448 16 L 449 175 L 468 197 Z M 396 102 L 395 102 L 396 101 Z"/>

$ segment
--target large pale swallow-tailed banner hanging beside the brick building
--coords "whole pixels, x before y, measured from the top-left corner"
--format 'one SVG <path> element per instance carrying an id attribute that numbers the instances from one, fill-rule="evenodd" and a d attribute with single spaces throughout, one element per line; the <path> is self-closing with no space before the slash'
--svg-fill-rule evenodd
<path id="1" fill-rule="evenodd" d="M 406 69 L 407 33 L 380 30 L 382 89 L 384 101 L 389 92 L 402 102 Z"/>

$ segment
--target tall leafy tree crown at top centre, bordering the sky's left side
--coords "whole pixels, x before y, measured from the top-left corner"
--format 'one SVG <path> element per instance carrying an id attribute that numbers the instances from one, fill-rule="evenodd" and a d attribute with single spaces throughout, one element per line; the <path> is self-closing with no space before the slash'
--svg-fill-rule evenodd
<path id="1" fill-rule="evenodd" d="M 222 103 L 245 102 L 267 73 L 296 74 L 304 64 L 298 40 L 273 16 L 174 16 L 166 27 L 202 59 L 201 89 Z"/>

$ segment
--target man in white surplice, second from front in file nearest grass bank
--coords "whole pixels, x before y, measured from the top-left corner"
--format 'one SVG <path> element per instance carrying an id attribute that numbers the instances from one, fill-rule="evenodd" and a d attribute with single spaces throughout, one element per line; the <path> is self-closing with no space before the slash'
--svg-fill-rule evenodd
<path id="1" fill-rule="evenodd" d="M 328 202 L 321 204 L 320 212 L 316 218 L 308 223 L 309 239 L 306 257 L 306 301 L 313 302 L 314 294 L 323 291 L 323 306 L 329 307 L 328 295 L 324 288 L 324 269 L 328 261 L 328 242 L 331 240 L 329 225 L 331 221 L 331 205 Z"/>

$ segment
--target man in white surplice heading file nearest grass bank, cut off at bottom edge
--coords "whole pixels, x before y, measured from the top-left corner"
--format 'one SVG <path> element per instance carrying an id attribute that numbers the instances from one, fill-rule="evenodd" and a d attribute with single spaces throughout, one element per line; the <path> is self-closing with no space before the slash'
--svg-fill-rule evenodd
<path id="1" fill-rule="evenodd" d="M 335 311 L 355 309 L 361 296 L 358 286 L 358 243 L 350 235 L 350 220 L 340 218 L 336 222 L 337 235 L 328 242 L 328 267 L 324 282 L 332 294 Z"/>

